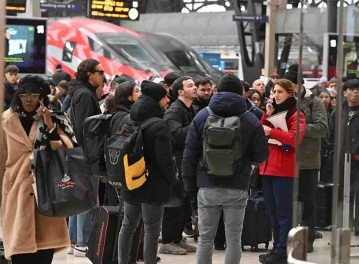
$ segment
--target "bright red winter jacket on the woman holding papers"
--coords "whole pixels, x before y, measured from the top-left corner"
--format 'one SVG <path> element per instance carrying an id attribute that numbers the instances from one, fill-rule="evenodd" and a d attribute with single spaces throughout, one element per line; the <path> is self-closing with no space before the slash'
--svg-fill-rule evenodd
<path id="1" fill-rule="evenodd" d="M 269 158 L 259 166 L 259 174 L 294 177 L 297 112 L 287 119 L 288 132 L 275 129 L 269 121 L 265 120 L 267 117 L 268 115 L 265 113 L 261 119 L 261 123 L 262 125 L 272 128 L 269 137 L 278 140 L 282 144 L 291 145 L 292 148 L 289 151 L 285 151 L 282 146 L 269 144 Z M 300 142 L 302 142 L 305 128 L 306 120 L 304 114 L 301 112 L 299 125 Z"/>

